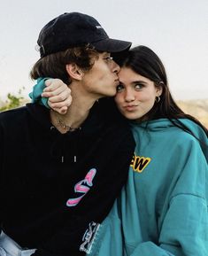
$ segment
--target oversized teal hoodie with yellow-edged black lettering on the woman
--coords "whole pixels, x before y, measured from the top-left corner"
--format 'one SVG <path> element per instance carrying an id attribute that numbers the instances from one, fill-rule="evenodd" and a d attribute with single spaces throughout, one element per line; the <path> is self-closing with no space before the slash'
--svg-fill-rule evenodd
<path id="1" fill-rule="evenodd" d="M 207 256 L 208 139 L 166 119 L 133 124 L 135 158 L 127 185 L 96 230 L 90 256 Z"/>

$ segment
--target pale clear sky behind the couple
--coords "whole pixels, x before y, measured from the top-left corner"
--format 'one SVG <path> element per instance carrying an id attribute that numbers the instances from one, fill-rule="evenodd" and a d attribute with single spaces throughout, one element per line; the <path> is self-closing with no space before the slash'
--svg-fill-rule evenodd
<path id="1" fill-rule="evenodd" d="M 107 34 L 146 45 L 166 66 L 173 97 L 208 98 L 208 0 L 0 0 L 0 98 L 31 91 L 42 27 L 64 12 L 96 18 Z"/>

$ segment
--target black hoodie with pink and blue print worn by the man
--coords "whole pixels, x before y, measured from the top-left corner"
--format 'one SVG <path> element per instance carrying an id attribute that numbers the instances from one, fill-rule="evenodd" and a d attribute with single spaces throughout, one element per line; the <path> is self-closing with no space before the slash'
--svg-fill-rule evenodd
<path id="1" fill-rule="evenodd" d="M 36 256 L 85 255 L 91 229 L 98 229 L 127 180 L 134 149 L 127 122 L 102 103 L 80 130 L 66 134 L 52 126 L 42 105 L 0 113 L 4 233 L 36 248 Z"/>

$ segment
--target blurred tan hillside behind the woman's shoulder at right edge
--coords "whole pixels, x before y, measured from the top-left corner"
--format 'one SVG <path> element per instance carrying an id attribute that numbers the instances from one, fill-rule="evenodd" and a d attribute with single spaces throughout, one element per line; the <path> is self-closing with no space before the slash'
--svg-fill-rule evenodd
<path id="1" fill-rule="evenodd" d="M 178 100 L 181 109 L 200 120 L 208 128 L 208 99 Z"/>

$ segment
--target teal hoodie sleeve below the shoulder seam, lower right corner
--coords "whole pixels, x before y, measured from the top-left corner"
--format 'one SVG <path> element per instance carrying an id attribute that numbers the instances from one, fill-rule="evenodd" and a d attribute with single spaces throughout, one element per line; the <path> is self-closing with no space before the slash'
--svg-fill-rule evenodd
<path id="1" fill-rule="evenodd" d="M 158 244 L 147 241 L 131 256 L 204 256 L 208 255 L 207 206 L 204 198 L 178 195 L 166 214 Z"/>

